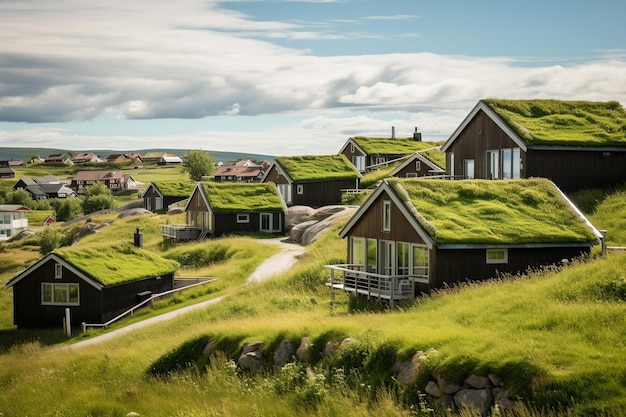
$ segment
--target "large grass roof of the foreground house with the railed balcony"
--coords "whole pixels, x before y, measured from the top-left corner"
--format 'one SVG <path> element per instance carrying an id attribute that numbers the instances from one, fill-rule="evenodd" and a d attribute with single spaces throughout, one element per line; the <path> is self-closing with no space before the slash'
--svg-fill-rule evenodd
<path id="1" fill-rule="evenodd" d="M 530 180 L 403 180 L 390 185 L 441 244 L 582 243 L 597 240 L 556 186 Z"/>

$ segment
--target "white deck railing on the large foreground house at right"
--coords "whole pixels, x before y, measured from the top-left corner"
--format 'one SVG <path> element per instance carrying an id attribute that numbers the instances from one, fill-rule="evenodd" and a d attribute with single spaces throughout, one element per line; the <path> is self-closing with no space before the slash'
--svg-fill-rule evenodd
<path id="1" fill-rule="evenodd" d="M 367 296 L 389 300 L 391 304 L 399 300 L 415 298 L 415 277 L 411 275 L 382 275 L 364 271 L 363 265 L 326 265 L 330 269 L 331 289 L 339 289 Z"/>

